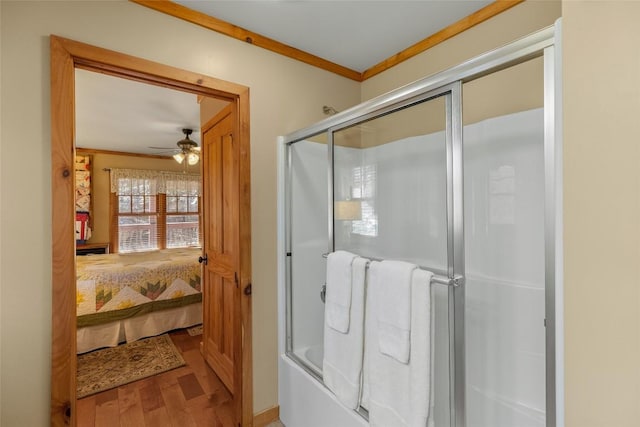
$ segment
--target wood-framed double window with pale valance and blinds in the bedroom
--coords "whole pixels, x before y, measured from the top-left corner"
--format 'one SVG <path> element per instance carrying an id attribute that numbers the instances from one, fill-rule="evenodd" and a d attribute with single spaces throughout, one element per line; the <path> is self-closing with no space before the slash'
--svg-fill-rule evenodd
<path id="1" fill-rule="evenodd" d="M 200 245 L 200 177 L 111 170 L 111 245 L 143 252 Z"/>

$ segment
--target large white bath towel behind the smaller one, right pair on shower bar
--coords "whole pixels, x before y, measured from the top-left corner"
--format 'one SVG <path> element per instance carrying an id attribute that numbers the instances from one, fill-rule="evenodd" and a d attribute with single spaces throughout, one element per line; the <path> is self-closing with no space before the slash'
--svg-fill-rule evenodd
<path id="1" fill-rule="evenodd" d="M 377 265 L 376 265 L 377 264 Z M 380 298 L 380 264 L 371 263 L 367 294 L 366 363 L 368 382 L 366 405 L 369 424 L 380 427 L 425 427 L 433 400 L 431 381 L 431 277 L 414 270 L 411 279 L 411 349 L 409 363 L 382 354 L 378 345 L 376 311 L 387 301 Z"/>

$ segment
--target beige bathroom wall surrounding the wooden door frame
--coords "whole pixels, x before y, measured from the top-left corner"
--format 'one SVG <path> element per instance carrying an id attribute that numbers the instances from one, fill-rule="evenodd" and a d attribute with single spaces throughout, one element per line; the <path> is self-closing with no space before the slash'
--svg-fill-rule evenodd
<path id="1" fill-rule="evenodd" d="M 276 405 L 276 136 L 324 118 L 323 105 L 358 103 L 359 84 L 130 2 L 1 1 L 0 8 L 0 203 L 15 207 L 0 223 L 0 424 L 49 424 L 50 34 L 250 87 L 254 408 Z"/>

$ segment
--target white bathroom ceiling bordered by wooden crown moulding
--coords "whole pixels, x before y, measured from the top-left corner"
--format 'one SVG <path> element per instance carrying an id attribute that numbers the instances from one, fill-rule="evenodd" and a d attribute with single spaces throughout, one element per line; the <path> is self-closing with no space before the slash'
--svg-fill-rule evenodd
<path id="1" fill-rule="evenodd" d="M 487 0 L 174 0 L 356 71 L 482 9 Z"/>

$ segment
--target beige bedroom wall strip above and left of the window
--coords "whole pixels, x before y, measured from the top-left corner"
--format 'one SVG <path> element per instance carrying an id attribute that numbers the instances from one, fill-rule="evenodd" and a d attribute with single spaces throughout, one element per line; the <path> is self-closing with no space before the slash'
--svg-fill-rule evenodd
<path id="1" fill-rule="evenodd" d="M 89 152 L 89 154 L 91 153 Z M 172 158 L 156 159 L 104 153 L 91 154 L 91 156 L 93 157 L 93 172 L 91 174 L 91 202 L 93 204 L 91 216 L 93 227 L 88 243 L 109 243 L 109 194 L 111 182 L 109 172 L 105 171 L 105 168 L 151 169 L 176 172 L 184 170 L 184 165 Z M 200 173 L 199 165 L 191 166 L 189 172 Z"/>

